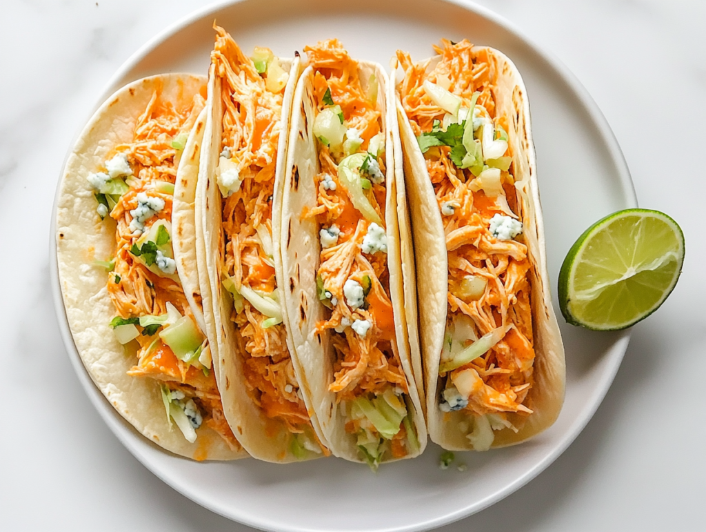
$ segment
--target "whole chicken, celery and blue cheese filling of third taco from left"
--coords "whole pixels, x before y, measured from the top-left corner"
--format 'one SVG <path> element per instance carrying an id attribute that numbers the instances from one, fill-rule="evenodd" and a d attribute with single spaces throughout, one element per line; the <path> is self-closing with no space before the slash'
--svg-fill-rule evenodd
<path id="1" fill-rule="evenodd" d="M 337 40 L 304 51 L 314 71 L 320 171 L 317 206 L 303 218 L 318 225 L 318 299 L 329 309 L 317 333 L 330 334 L 335 362 L 328 389 L 336 394 L 345 430 L 357 437 L 361 459 L 376 466 L 385 456 L 402 458 L 419 449 L 390 301 L 378 82 L 373 74 L 361 83 L 357 61 Z"/>

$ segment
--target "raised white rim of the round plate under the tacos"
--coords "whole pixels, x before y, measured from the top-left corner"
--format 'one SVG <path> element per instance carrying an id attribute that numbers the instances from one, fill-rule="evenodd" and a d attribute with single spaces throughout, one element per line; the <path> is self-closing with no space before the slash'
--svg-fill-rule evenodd
<path id="1" fill-rule="evenodd" d="M 186 16 L 179 18 L 174 23 L 167 25 L 164 29 L 157 32 L 153 37 L 151 37 L 135 52 L 133 52 L 133 54 L 131 54 L 130 57 L 128 57 L 123 62 L 123 64 L 119 66 L 115 73 L 109 78 L 107 83 L 104 84 L 102 90 L 100 91 L 100 94 L 95 100 L 93 107 L 90 109 L 90 114 L 88 114 L 88 117 L 92 116 L 95 110 L 100 107 L 102 102 L 104 102 L 104 100 L 106 100 L 107 97 L 109 97 L 109 95 L 111 95 L 114 90 L 118 88 L 119 82 L 122 78 L 126 76 L 126 73 L 134 69 L 135 66 L 140 63 L 140 61 L 145 59 L 145 57 L 147 57 L 148 54 L 150 54 L 150 52 L 155 49 L 155 47 L 157 47 L 170 37 L 177 35 L 177 33 L 179 33 L 181 30 L 184 30 L 184 28 L 187 28 L 189 25 L 196 22 L 196 20 L 199 20 L 204 16 L 208 16 L 209 14 L 216 13 L 217 11 L 221 11 L 225 8 L 232 8 L 237 4 L 244 3 L 244 1 L 246 0 L 215 1 L 211 4 L 202 6 L 201 8 L 197 8 L 194 11 L 191 11 L 190 13 L 186 14 Z M 638 207 L 638 199 L 637 195 L 635 194 L 633 180 L 630 176 L 630 170 L 628 169 L 628 164 L 618 144 L 614 131 L 611 129 L 606 117 L 598 107 L 595 100 L 593 100 L 590 93 L 588 93 L 587 89 L 582 85 L 582 83 L 580 83 L 579 79 L 575 76 L 575 74 L 570 71 L 570 69 L 568 69 L 568 66 L 566 66 L 563 61 L 561 61 L 561 59 L 558 59 L 554 52 L 551 52 L 549 49 L 546 49 L 542 45 L 539 45 L 537 42 L 532 40 L 532 38 L 526 35 L 525 32 L 520 30 L 520 28 L 518 28 L 514 23 L 511 23 L 508 19 L 492 11 L 490 8 L 486 8 L 485 6 L 476 4 L 471 0 L 438 1 L 463 8 L 467 11 L 470 11 L 471 13 L 476 14 L 477 16 L 480 16 L 481 18 L 489 20 L 493 24 L 500 26 L 501 28 L 503 28 L 503 30 L 515 37 L 518 41 L 520 41 L 525 48 L 532 50 L 532 52 L 534 52 L 540 58 L 546 61 L 549 67 L 554 70 L 554 72 L 561 78 L 564 83 L 566 83 L 571 93 L 573 93 L 573 95 L 578 99 L 580 105 L 582 105 L 585 112 L 590 117 L 591 121 L 599 129 L 600 137 L 604 143 L 604 146 L 606 147 L 607 152 L 609 153 L 610 160 L 615 167 L 616 174 L 620 179 L 621 189 L 623 191 L 625 201 L 627 203 L 626 208 Z M 88 117 L 84 122 L 88 122 Z M 202 497 L 198 491 L 190 491 L 184 485 L 181 485 L 181 483 L 177 482 L 177 480 L 170 478 L 170 476 L 164 473 L 164 471 L 162 471 L 160 467 L 152 463 L 148 454 L 145 454 L 144 449 L 141 449 L 139 444 L 136 444 L 136 442 L 144 440 L 145 442 L 148 442 L 150 446 L 155 447 L 155 451 L 165 451 L 163 449 L 157 449 L 156 446 L 152 444 L 152 442 L 149 442 L 149 440 L 142 437 L 142 435 L 136 432 L 133 427 L 128 426 L 128 422 L 121 418 L 119 413 L 116 413 L 114 411 L 107 399 L 104 398 L 100 390 L 97 389 L 95 384 L 92 382 L 90 375 L 83 366 L 83 362 L 80 359 L 80 355 L 78 354 L 76 345 L 73 343 L 73 336 L 71 336 L 71 329 L 68 325 L 68 317 L 66 315 L 66 309 L 64 307 L 64 298 L 61 294 L 61 286 L 59 280 L 59 264 L 58 256 L 56 254 L 56 209 L 59 200 L 59 188 L 61 187 L 61 176 L 63 175 L 63 169 L 66 165 L 66 160 L 68 159 L 68 156 L 73 150 L 73 146 L 76 143 L 76 139 L 80 135 L 81 129 L 83 129 L 83 125 L 80 126 L 80 128 L 76 131 L 73 138 L 71 139 L 71 143 L 68 145 L 66 155 L 64 157 L 64 163 L 61 166 L 61 169 L 59 170 L 59 179 L 57 180 L 56 191 L 54 193 L 54 204 L 52 207 L 52 218 L 49 235 L 49 277 L 51 282 L 52 296 L 54 300 L 54 309 L 59 324 L 61 338 L 64 343 L 64 347 L 66 348 L 68 358 L 71 361 L 71 365 L 73 366 L 78 380 L 83 386 L 83 389 L 86 395 L 88 396 L 90 402 L 96 408 L 102 420 L 106 423 L 111 432 L 115 435 L 119 442 L 121 442 L 121 444 L 123 444 L 123 446 L 130 452 L 130 454 L 132 454 L 143 466 L 145 466 L 148 471 L 157 476 L 157 478 L 160 478 L 162 482 L 172 487 L 172 489 L 176 490 L 181 495 L 184 495 L 184 497 L 187 497 L 193 502 L 196 502 L 197 504 L 201 505 L 202 507 L 209 509 L 211 512 L 219 514 L 232 521 L 237 521 L 246 526 L 251 526 L 253 528 L 259 528 L 262 530 L 278 530 L 291 532 L 318 531 L 318 528 L 307 528 L 306 526 L 296 525 L 286 527 L 277 526 L 275 528 L 275 524 L 266 518 L 263 518 L 258 521 L 255 519 L 250 519 L 249 516 L 236 516 L 238 512 L 225 512 L 225 510 L 217 504 L 213 504 L 209 500 L 205 500 L 205 498 Z M 613 352 L 611 354 L 611 364 L 606 367 L 602 378 L 599 379 L 598 385 L 595 386 L 592 390 L 592 401 L 590 401 L 590 410 L 587 410 L 587 412 L 581 418 L 575 420 L 575 422 L 570 425 L 570 428 L 566 430 L 563 437 L 561 437 L 561 439 L 559 439 L 558 442 L 554 444 L 554 449 L 548 454 L 546 454 L 546 456 L 544 456 L 542 460 L 535 463 L 534 466 L 532 466 L 532 468 L 526 471 L 523 475 L 520 475 L 520 477 L 515 478 L 511 483 L 505 485 L 505 487 L 503 487 L 502 489 L 499 489 L 496 492 L 487 495 L 481 501 L 473 502 L 465 507 L 460 507 L 455 511 L 445 512 L 444 514 L 440 514 L 434 518 L 427 519 L 423 522 L 417 522 L 415 524 L 397 526 L 393 528 L 378 528 L 376 530 L 380 532 L 412 532 L 429 530 L 438 526 L 444 526 L 453 523 L 454 521 L 464 519 L 465 517 L 468 517 L 477 512 L 481 512 L 483 509 L 486 509 L 492 504 L 495 504 L 503 498 L 508 497 L 508 495 L 519 490 L 522 486 L 529 483 L 530 480 L 537 477 L 539 473 L 542 473 L 542 471 L 549 467 L 551 463 L 558 459 L 558 456 L 561 456 L 561 454 L 566 451 L 570 444 L 573 443 L 573 441 L 578 437 L 578 435 L 580 435 L 582 430 L 584 430 L 588 422 L 590 422 L 590 420 L 593 418 L 597 409 L 601 405 L 608 389 L 614 381 L 616 373 L 618 372 L 623 357 L 626 353 L 628 343 L 630 341 L 630 333 L 631 329 L 626 329 L 618 333 L 616 341 L 611 347 L 611 352 Z M 147 449 L 151 449 L 151 447 L 147 447 Z M 168 451 L 166 452 L 168 453 Z"/>

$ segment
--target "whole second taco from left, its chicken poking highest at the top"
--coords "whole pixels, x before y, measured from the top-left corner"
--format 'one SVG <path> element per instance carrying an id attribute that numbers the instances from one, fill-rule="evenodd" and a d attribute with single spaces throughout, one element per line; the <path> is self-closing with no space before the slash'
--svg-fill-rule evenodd
<path id="1" fill-rule="evenodd" d="M 280 168 L 299 58 L 246 57 L 222 28 L 209 74 L 210 114 L 197 217 L 203 223 L 206 329 L 225 415 L 249 453 L 289 462 L 328 454 L 302 398 L 282 309 Z M 278 273 L 279 272 L 279 273 Z"/>

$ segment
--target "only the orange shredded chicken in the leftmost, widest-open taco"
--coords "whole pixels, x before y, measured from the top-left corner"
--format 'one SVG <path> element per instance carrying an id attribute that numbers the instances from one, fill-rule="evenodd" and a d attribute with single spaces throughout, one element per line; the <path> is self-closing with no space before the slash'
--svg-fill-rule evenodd
<path id="1" fill-rule="evenodd" d="M 175 138 L 185 138 L 205 105 L 204 95 L 196 94 L 184 107 L 162 99 L 157 88 L 144 112 L 138 117 L 130 143 L 116 146 L 124 154 L 132 170 L 126 179 L 129 190 L 120 196 L 110 216 L 116 222 L 114 270 L 109 273 L 107 290 L 122 318 L 159 316 L 167 312 L 170 302 L 183 315 L 193 319 L 184 290 L 176 275 L 159 276 L 136 259 L 131 250 L 140 235 L 158 220 L 171 220 L 173 196 L 160 184 L 174 184 L 181 150 L 174 148 Z M 131 230 L 131 211 L 138 206 L 137 195 L 164 201 L 164 208 L 145 221 L 144 230 Z M 233 450 L 241 446 L 223 416 L 223 406 L 215 376 L 203 367 L 180 360 L 155 332 L 143 329 L 137 341 L 137 364 L 128 372 L 133 377 L 155 379 L 191 398 L 203 413 L 203 422 L 215 430 Z"/>

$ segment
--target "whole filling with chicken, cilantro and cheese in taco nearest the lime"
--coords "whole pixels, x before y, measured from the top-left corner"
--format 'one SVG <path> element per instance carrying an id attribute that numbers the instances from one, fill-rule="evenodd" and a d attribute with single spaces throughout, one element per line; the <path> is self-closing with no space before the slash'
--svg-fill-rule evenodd
<path id="1" fill-rule="evenodd" d="M 470 444 L 486 450 L 494 430 L 517 432 L 508 413 L 532 414 L 531 266 L 493 63 L 467 40 L 442 40 L 435 49 L 441 60 L 431 71 L 428 61 L 414 64 L 397 51 L 405 71 L 398 94 L 424 153 L 448 251 L 438 408 L 473 427 Z"/>

